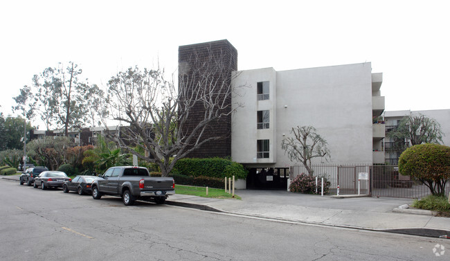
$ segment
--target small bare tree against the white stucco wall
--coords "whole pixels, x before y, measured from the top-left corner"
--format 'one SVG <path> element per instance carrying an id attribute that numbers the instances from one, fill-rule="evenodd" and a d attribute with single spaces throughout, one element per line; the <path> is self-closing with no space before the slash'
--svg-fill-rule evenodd
<path id="1" fill-rule="evenodd" d="M 293 127 L 289 133 L 294 137 L 283 138 L 281 141 L 285 154 L 287 153 L 291 161 L 303 163 L 309 175 L 314 174 L 312 159 L 330 158 L 327 141 L 312 126 Z"/>

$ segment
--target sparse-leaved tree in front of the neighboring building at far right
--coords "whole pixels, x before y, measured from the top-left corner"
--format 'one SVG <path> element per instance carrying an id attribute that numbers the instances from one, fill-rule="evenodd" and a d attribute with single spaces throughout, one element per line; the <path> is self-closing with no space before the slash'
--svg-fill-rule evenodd
<path id="1" fill-rule="evenodd" d="M 442 133 L 440 124 L 433 118 L 428 118 L 422 114 L 418 116 L 408 116 L 400 120 L 396 129 L 388 133 L 388 137 L 394 141 L 411 142 L 411 145 L 422 143 L 442 143 Z"/>

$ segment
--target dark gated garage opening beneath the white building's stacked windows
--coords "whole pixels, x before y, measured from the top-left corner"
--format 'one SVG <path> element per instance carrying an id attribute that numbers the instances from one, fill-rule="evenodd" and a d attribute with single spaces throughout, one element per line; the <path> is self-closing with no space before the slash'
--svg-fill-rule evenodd
<path id="1" fill-rule="evenodd" d="M 287 190 L 289 168 L 251 168 L 246 179 L 247 189 Z"/>

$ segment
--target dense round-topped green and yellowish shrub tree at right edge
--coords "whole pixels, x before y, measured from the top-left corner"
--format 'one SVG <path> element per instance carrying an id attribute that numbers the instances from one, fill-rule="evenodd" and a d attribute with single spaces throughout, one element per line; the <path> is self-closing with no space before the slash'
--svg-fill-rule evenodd
<path id="1" fill-rule="evenodd" d="M 429 143 L 409 147 L 400 156 L 399 172 L 424 183 L 431 194 L 443 196 L 450 179 L 450 147 Z"/>

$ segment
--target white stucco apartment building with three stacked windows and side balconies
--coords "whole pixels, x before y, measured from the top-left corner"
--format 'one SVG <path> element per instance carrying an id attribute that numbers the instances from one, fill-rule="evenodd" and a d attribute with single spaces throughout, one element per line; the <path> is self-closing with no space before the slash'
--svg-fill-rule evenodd
<path id="1" fill-rule="evenodd" d="M 331 160 L 316 163 L 384 163 L 382 73 L 370 62 L 289 71 L 235 71 L 231 156 L 247 168 L 293 165 L 281 148 L 292 127 L 312 125 L 328 143 Z M 380 162 L 381 161 L 381 162 Z"/>

